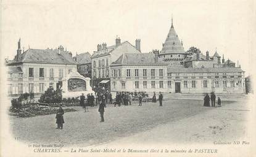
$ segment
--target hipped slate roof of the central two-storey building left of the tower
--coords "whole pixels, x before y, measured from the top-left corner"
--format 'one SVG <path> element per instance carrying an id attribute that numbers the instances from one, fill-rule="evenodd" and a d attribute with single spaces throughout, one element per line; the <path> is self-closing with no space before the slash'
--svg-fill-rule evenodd
<path id="1" fill-rule="evenodd" d="M 154 53 L 123 53 L 112 64 L 167 64 L 160 58 L 157 60 Z"/>

